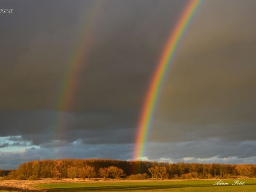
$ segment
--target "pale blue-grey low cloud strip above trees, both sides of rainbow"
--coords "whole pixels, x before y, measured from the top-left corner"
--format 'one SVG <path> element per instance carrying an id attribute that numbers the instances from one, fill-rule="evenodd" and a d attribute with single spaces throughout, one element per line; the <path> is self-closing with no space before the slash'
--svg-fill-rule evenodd
<path id="1" fill-rule="evenodd" d="M 203 146 L 203 147 L 202 147 Z M 254 163 L 256 142 L 220 142 L 213 138 L 196 142 L 146 144 L 144 159 L 167 162 L 200 162 L 200 163 Z M 18 164 L 37 159 L 64 158 L 110 158 L 131 159 L 134 144 L 83 144 L 80 140 L 72 143 L 60 143 L 54 147 L 46 144 L 31 147 L 22 151 L 0 152 L 0 169 L 16 168 Z"/>

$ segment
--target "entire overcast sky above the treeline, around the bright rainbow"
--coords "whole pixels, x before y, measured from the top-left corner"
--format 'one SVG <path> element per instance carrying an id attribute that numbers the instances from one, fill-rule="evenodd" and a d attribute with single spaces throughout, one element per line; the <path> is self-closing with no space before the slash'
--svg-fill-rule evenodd
<path id="1" fill-rule="evenodd" d="M 132 159 L 147 87 L 187 3 L 0 0 L 13 8 L 0 13 L 0 169 Z M 144 159 L 256 163 L 255 10 L 255 0 L 202 0 L 165 78 Z M 76 53 L 73 99 L 62 108 Z"/>

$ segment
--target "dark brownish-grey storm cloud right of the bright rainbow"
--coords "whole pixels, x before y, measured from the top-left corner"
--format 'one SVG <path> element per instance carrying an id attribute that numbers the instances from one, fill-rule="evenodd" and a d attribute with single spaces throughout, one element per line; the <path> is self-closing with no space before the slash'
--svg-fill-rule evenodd
<path id="1" fill-rule="evenodd" d="M 152 141 L 255 140 L 256 3 L 246 2 L 203 1 L 166 78 Z"/>

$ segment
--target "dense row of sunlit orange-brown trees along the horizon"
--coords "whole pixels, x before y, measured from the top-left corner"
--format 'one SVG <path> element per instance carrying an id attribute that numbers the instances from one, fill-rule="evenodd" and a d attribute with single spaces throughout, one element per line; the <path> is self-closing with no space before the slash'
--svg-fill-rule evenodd
<path id="1" fill-rule="evenodd" d="M 168 163 L 113 159 L 58 159 L 29 161 L 9 173 L 6 179 L 37 178 L 128 178 L 193 179 L 255 177 L 256 165 Z"/>

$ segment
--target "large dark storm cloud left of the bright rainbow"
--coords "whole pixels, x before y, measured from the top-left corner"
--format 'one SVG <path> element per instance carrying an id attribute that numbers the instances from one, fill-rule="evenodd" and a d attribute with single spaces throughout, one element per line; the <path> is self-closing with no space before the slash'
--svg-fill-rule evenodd
<path id="1" fill-rule="evenodd" d="M 23 46 L 22 52 L 14 56 L 15 61 L 1 64 L 5 67 L 0 72 L 5 82 L 0 95 L 1 136 L 20 135 L 33 144 L 48 146 L 57 144 L 52 140 L 62 140 L 62 144 L 77 139 L 84 143 L 134 142 L 148 80 L 185 2 L 98 1 L 92 9 L 98 16 L 92 13 L 92 18 L 85 16 L 93 1 L 76 1 L 73 5 L 44 3 L 49 14 L 37 4 L 32 3 L 24 12 L 24 5 L 16 5 L 17 11 L 7 27 L 18 27 L 24 17 L 30 29 L 27 35 L 22 34 L 24 42 L 18 43 Z M 56 17 L 50 19 L 54 10 Z M 59 100 L 65 97 L 61 89 L 66 86 L 70 60 L 79 51 L 77 44 L 83 39 L 83 28 L 84 33 L 91 34 L 90 41 L 83 42 L 90 49 L 76 74 L 78 88 L 73 105 L 69 112 L 55 111 Z"/>

